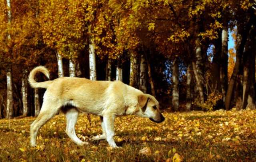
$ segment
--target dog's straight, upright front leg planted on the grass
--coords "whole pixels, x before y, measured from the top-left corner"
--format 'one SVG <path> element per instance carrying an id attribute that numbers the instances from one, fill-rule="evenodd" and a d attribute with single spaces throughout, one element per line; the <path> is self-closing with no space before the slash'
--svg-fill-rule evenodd
<path id="1" fill-rule="evenodd" d="M 103 116 L 103 122 L 106 130 L 106 140 L 108 141 L 108 144 L 112 146 L 113 148 L 118 148 L 116 146 L 116 143 L 114 142 L 114 120 L 116 116 L 113 114 L 107 114 Z"/>

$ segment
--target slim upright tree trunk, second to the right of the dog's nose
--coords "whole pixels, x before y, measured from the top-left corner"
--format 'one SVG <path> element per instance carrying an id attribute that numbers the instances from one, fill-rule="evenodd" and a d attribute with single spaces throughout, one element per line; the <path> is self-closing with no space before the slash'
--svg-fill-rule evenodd
<path id="1" fill-rule="evenodd" d="M 191 110 L 192 94 L 191 94 L 191 81 L 192 81 L 192 62 L 187 67 L 187 82 L 186 82 L 186 111 Z"/>

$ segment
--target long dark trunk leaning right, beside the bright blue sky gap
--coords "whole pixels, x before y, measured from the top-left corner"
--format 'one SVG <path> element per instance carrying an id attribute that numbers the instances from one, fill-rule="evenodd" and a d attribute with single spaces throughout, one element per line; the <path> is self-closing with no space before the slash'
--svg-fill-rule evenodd
<path id="1" fill-rule="evenodd" d="M 242 54 L 244 53 L 244 46 L 246 44 L 246 40 L 250 31 L 250 28 L 252 26 L 252 23 L 254 22 L 254 19 L 255 19 L 254 12 L 252 12 L 248 20 L 248 23 L 246 24 L 246 28 L 242 31 L 238 30 L 237 41 L 236 41 L 236 63 L 234 66 L 232 76 L 230 78 L 230 82 L 228 84 L 228 90 L 227 90 L 226 99 L 224 102 L 226 110 L 229 110 L 230 108 L 231 97 L 234 89 L 234 84 L 236 82 L 237 74 L 239 71 L 240 60 L 241 60 Z M 240 35 L 240 33 L 243 33 L 243 34 Z"/>

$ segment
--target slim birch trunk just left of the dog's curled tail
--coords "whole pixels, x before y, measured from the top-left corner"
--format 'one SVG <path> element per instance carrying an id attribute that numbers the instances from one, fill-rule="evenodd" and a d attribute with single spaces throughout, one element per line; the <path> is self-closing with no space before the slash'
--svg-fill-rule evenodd
<path id="1" fill-rule="evenodd" d="M 23 116 L 28 116 L 28 70 L 22 72 Z"/>

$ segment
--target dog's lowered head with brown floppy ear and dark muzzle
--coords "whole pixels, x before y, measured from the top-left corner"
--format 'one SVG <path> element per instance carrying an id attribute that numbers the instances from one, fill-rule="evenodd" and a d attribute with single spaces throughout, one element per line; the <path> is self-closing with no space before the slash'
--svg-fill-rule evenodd
<path id="1" fill-rule="evenodd" d="M 137 116 L 149 118 L 153 122 L 163 122 L 164 116 L 159 110 L 159 103 L 153 96 L 149 94 L 140 94 L 138 96 L 139 111 Z"/>

